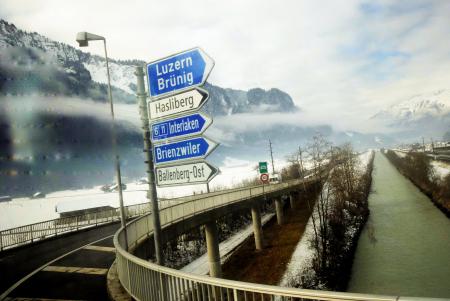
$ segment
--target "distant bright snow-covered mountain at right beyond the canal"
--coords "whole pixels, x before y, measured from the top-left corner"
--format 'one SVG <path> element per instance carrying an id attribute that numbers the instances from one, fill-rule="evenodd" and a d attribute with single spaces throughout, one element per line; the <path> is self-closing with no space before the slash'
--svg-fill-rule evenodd
<path id="1" fill-rule="evenodd" d="M 417 135 L 441 138 L 450 130 L 450 89 L 414 95 L 380 111 L 372 119 L 408 138 Z"/>

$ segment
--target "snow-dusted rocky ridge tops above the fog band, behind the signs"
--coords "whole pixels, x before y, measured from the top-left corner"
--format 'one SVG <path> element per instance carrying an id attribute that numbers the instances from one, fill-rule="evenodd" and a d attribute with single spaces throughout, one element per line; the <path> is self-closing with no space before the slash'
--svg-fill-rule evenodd
<path id="1" fill-rule="evenodd" d="M 25 32 L 1 19 L 0 50 L 0 87 L 3 93 L 81 94 L 96 100 L 102 100 L 106 95 L 106 62 L 103 57 L 82 52 L 36 32 Z M 115 100 L 135 102 L 134 66 L 144 64 L 139 60 L 110 59 Z M 59 83 L 56 87 L 55 81 Z M 206 88 L 211 94 L 206 110 L 212 115 L 297 110 L 292 98 L 278 89 L 242 91 L 211 84 Z"/>

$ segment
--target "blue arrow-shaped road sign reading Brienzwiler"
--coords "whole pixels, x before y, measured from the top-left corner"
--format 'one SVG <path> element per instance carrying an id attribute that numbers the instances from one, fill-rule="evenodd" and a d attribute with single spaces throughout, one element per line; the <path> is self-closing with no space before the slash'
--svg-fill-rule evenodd
<path id="1" fill-rule="evenodd" d="M 180 160 L 203 159 L 216 147 L 216 142 L 205 137 L 155 145 L 153 148 L 154 160 L 156 164 L 163 164 Z"/>

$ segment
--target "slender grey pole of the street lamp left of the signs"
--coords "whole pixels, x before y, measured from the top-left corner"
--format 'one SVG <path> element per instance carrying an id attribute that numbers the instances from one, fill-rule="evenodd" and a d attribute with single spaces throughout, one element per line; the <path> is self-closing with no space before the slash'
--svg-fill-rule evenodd
<path id="1" fill-rule="evenodd" d="M 103 39 L 103 45 L 105 46 L 106 72 L 108 74 L 108 97 L 109 97 L 109 106 L 111 108 L 111 118 L 112 118 L 112 144 L 113 144 L 112 146 L 113 146 L 113 153 L 114 153 L 115 165 L 116 165 L 117 189 L 119 191 L 120 223 L 122 225 L 122 228 L 124 228 L 125 247 L 128 250 L 127 229 L 125 228 L 127 219 L 125 216 L 125 210 L 123 208 L 122 177 L 120 175 L 119 153 L 117 152 L 116 120 L 114 118 L 114 104 L 113 104 L 112 93 L 111 93 L 111 77 L 109 75 L 109 63 L 108 63 L 108 53 L 106 51 L 106 39 Z"/>

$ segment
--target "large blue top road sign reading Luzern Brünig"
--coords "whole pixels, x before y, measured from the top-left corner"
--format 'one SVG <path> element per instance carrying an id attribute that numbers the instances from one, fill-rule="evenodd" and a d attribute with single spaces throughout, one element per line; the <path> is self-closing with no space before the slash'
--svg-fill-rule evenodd
<path id="1" fill-rule="evenodd" d="M 150 97 L 203 85 L 214 61 L 200 48 L 147 64 Z"/>

